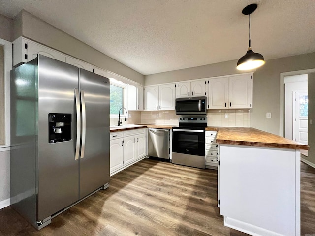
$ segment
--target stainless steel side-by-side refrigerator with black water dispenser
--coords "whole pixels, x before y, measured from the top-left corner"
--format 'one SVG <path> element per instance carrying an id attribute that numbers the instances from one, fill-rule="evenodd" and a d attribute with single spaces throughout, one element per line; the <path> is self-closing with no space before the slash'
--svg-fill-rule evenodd
<path id="1" fill-rule="evenodd" d="M 109 79 L 42 55 L 11 71 L 11 203 L 38 229 L 109 186 Z"/>

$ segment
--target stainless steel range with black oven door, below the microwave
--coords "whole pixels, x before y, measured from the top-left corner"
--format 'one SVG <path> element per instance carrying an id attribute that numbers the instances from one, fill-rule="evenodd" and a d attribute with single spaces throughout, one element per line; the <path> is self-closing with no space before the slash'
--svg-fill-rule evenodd
<path id="1" fill-rule="evenodd" d="M 183 116 L 173 127 L 172 163 L 205 168 L 206 116 Z"/>

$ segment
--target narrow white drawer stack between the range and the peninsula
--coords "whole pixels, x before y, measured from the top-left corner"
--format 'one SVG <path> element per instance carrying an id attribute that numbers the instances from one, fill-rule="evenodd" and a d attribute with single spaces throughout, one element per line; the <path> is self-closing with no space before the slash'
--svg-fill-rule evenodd
<path id="1" fill-rule="evenodd" d="M 206 168 L 217 169 L 219 159 L 219 148 L 216 142 L 216 131 L 206 131 L 205 135 L 205 164 Z"/>

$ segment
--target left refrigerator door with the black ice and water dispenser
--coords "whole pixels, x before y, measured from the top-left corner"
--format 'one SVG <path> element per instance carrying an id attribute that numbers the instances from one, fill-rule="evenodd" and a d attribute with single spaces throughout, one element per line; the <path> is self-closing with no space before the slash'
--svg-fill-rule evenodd
<path id="1" fill-rule="evenodd" d="M 79 200 L 79 160 L 75 160 L 77 131 L 75 88 L 79 89 L 79 69 L 42 55 L 38 55 L 37 69 L 38 195 L 36 220 L 41 221 Z M 80 114 L 80 111 L 78 112 Z M 56 137 L 61 137 L 66 129 L 65 122 L 52 124 L 54 120 L 52 115 L 49 120 L 49 114 L 68 114 L 67 118 L 71 117 L 70 140 L 49 143 L 49 126 L 54 126 Z"/>

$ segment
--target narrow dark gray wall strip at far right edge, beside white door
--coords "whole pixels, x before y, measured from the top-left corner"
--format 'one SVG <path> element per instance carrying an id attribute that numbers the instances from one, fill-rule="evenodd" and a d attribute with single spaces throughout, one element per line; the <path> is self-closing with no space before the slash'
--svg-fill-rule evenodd
<path id="1" fill-rule="evenodd" d="M 315 165 L 315 73 L 308 74 L 308 98 L 309 98 L 309 128 L 308 143 L 310 146 L 309 156 L 305 158 Z M 310 124 L 312 119 L 313 124 Z"/>

